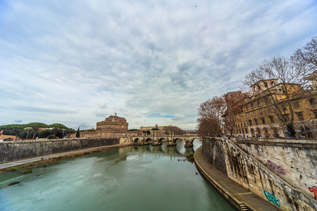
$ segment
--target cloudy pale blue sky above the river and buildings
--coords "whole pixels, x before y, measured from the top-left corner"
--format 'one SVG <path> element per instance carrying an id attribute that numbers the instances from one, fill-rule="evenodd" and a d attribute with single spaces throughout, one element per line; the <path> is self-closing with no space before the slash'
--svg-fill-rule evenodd
<path id="1" fill-rule="evenodd" d="M 0 125 L 196 129 L 198 108 L 317 35 L 317 1 L 0 0 Z"/>

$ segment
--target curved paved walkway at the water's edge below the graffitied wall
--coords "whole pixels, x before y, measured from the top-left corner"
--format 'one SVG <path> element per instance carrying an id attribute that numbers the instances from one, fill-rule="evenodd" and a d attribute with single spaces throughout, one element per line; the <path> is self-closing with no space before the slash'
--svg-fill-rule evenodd
<path id="1" fill-rule="evenodd" d="M 204 158 L 201 147 L 195 151 L 194 159 L 201 174 L 238 210 L 280 210 L 277 205 L 256 196 L 213 167 Z"/>

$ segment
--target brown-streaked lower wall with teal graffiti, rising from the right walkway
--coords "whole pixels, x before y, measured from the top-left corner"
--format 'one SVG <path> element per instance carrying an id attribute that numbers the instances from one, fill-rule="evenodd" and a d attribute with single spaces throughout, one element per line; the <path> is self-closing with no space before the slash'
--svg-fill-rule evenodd
<path id="1" fill-rule="evenodd" d="M 307 194 L 299 190 L 298 186 L 291 186 L 275 174 L 275 171 L 245 153 L 246 149 L 243 151 L 232 141 L 225 138 L 203 138 L 202 147 L 204 157 L 218 170 L 282 210 L 317 210 L 317 201 L 314 199 L 313 192 Z M 280 151 L 280 153 L 283 152 Z M 274 154 L 275 152 L 272 151 L 271 157 L 275 158 Z M 285 151 L 285 159 L 288 159 L 287 151 Z M 311 161 L 303 161 L 305 162 Z M 313 165 L 313 168 L 316 170 L 316 165 Z"/>

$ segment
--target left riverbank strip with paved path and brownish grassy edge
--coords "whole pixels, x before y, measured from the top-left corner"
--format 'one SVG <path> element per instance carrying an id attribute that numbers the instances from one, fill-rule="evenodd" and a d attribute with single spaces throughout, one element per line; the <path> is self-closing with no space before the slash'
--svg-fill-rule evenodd
<path id="1" fill-rule="evenodd" d="M 99 146 L 94 148 L 86 148 L 79 151 L 69 151 L 66 153 L 57 153 L 53 155 L 44 155 L 44 156 L 36 157 L 36 158 L 16 160 L 13 162 L 5 162 L 0 164 L 0 174 L 4 174 L 5 172 L 13 172 L 17 170 L 27 174 L 28 172 L 30 172 L 30 169 L 32 167 L 45 167 L 46 163 L 54 163 L 57 160 L 61 160 L 61 159 L 75 158 L 82 155 L 104 152 L 114 148 L 122 148 L 122 147 L 132 146 L 132 145 L 133 143 L 116 144 L 112 146 Z"/>

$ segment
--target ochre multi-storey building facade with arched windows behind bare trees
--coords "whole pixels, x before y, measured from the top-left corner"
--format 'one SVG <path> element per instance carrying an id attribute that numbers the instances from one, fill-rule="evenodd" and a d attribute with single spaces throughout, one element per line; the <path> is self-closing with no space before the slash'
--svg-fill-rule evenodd
<path id="1" fill-rule="evenodd" d="M 239 105 L 240 113 L 235 114 L 235 136 L 288 137 L 290 127 L 294 127 L 297 137 L 316 137 L 315 89 L 304 90 L 299 84 L 267 79 L 253 84 L 251 90 Z"/>

